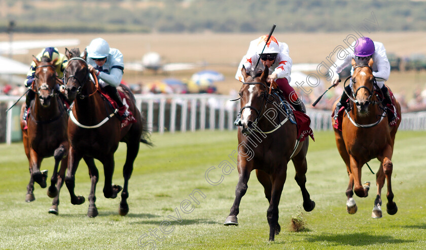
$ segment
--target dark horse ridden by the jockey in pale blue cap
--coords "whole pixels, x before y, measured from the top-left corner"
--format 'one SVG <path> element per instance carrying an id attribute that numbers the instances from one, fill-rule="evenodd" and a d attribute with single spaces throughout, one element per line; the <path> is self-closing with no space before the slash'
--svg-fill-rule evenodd
<path id="1" fill-rule="evenodd" d="M 105 182 L 103 195 L 105 198 L 116 198 L 122 187 L 112 183 L 114 173 L 114 153 L 120 141 L 127 144 L 127 157 L 123 167 L 124 186 L 121 193 L 119 206 L 120 215 L 126 215 L 129 211 L 127 204 L 128 181 L 133 171 L 133 162 L 139 151 L 139 143 L 151 145 L 145 139 L 147 131 L 144 129 L 144 119 L 135 106 L 135 99 L 130 89 L 121 84 L 117 89 L 126 96 L 125 100 L 129 110 L 133 113 L 135 122 L 121 128 L 121 120 L 114 115 L 114 109 L 105 101 L 97 86 L 89 77 L 89 69 L 86 63 L 87 51 L 80 57 L 80 50 L 65 49 L 68 65 L 65 68 L 65 90 L 68 100 L 74 101 L 68 120 L 69 153 L 68 168 L 65 183 L 71 196 L 72 204 L 82 204 L 83 196 L 74 193 L 75 173 L 80 160 L 83 158 L 89 168 L 91 189 L 89 194 L 89 208 L 87 216 L 95 217 L 98 211 L 95 205 L 96 183 L 99 173 L 94 159 L 103 164 Z M 93 76 L 93 79 L 96 76 Z M 96 81 L 96 80 L 95 80 Z M 97 81 L 96 81 L 97 82 Z M 124 100 L 123 100 L 124 102 Z"/>

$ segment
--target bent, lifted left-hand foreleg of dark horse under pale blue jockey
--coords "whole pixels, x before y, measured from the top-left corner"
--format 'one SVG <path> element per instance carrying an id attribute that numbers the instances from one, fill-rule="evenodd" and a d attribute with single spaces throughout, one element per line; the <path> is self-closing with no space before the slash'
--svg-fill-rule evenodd
<path id="1" fill-rule="evenodd" d="M 77 154 L 72 146 L 69 147 L 68 153 L 68 167 L 65 177 L 65 184 L 71 197 L 71 204 L 80 205 L 83 204 L 85 199 L 83 196 L 76 196 L 74 193 L 74 187 L 76 186 L 76 171 L 79 167 L 79 162 L 82 155 Z"/>

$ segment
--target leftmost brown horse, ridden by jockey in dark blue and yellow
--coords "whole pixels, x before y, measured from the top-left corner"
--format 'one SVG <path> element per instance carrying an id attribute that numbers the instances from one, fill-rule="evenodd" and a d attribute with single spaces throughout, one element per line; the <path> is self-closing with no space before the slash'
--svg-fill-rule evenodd
<path id="1" fill-rule="evenodd" d="M 22 119 L 25 104 L 21 107 L 21 130 L 25 154 L 29 162 L 30 180 L 27 186 L 26 202 L 35 200 L 34 181 L 42 188 L 47 186 L 47 170 L 40 171 L 44 158 L 54 157 L 55 167 L 47 195 L 53 199 L 49 213 L 58 214 L 59 191 L 63 185 L 68 155 L 67 122 L 68 115 L 63 101 L 58 97 L 56 85 L 59 79 L 55 63 L 49 57 L 35 62 L 35 79 L 29 91 L 35 92 L 35 98 L 28 110 L 27 121 Z M 61 82 L 60 82 L 61 83 Z M 27 128 L 25 128 L 27 126 Z M 58 166 L 61 167 L 58 172 Z M 56 185 L 56 186 L 55 186 Z"/>

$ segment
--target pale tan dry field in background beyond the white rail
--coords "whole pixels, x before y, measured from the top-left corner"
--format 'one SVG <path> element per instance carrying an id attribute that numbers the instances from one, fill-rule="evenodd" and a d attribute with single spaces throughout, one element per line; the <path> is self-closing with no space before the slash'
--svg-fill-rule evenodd
<path id="1" fill-rule="evenodd" d="M 293 64 L 304 62 L 320 64 L 337 46 L 347 47 L 343 40 L 350 34 L 356 33 L 281 33 L 274 36 L 289 45 Z M 18 41 L 73 38 L 80 40 L 79 47 L 83 49 L 92 39 L 101 37 L 107 40 L 111 47 L 118 48 L 123 53 L 125 62 L 140 61 L 142 56 L 150 51 L 158 52 L 166 63 L 205 62 L 206 65 L 202 68 L 167 74 L 156 75 L 151 72 L 125 70 L 123 80 L 129 84 L 144 84 L 167 77 L 189 79 L 196 71 L 211 69 L 225 75 L 225 81 L 218 82 L 216 86 L 220 93 L 228 94 L 231 89 L 240 88 L 240 83 L 234 79 L 237 64 L 245 54 L 250 41 L 260 35 L 264 34 L 14 34 L 13 39 Z M 399 56 L 426 54 L 426 32 L 371 33 L 366 36 L 384 43 L 387 52 Z M 2 34 L 0 38 L 1 41 L 9 41 L 6 34 Z M 62 53 L 65 51 L 64 47 L 58 49 Z M 40 50 L 31 49 L 26 55 L 14 55 L 14 59 L 29 64 L 31 55 L 39 53 Z M 387 85 L 409 100 L 416 89 L 424 89 L 426 86 L 426 72 L 393 71 Z"/>

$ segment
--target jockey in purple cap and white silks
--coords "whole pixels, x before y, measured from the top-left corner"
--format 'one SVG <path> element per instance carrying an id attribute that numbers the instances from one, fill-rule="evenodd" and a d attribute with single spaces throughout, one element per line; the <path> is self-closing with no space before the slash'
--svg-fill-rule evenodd
<path id="1" fill-rule="evenodd" d="M 355 44 L 353 44 L 355 45 Z M 339 74 L 342 72 L 344 68 L 351 64 L 352 58 L 360 65 L 368 65 L 370 58 L 373 59 L 373 76 L 376 78 L 377 86 L 383 92 L 383 104 L 388 106 L 392 105 L 392 100 L 390 99 L 389 92 L 384 85 L 384 82 L 387 81 L 390 75 L 390 64 L 386 56 L 386 50 L 382 43 L 373 42 L 368 37 L 362 37 L 358 39 L 353 52 L 351 52 L 350 48 L 346 49 L 346 57 L 343 59 L 337 59 L 335 62 L 335 67 L 331 67 L 330 70 L 333 73 L 333 78 L 331 80 L 331 84 L 336 86 L 339 84 Z M 351 74 L 353 73 L 353 68 L 351 69 Z M 352 81 L 345 87 L 346 92 L 351 92 Z M 337 119 L 337 113 L 341 109 L 341 107 L 348 108 L 346 106 L 346 102 L 348 97 L 346 92 L 343 91 L 340 101 L 336 105 L 336 109 L 334 112 L 334 118 Z M 389 122 L 395 119 L 394 112 L 387 110 L 388 120 Z"/>

